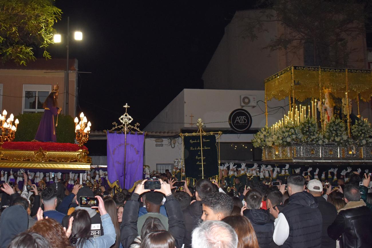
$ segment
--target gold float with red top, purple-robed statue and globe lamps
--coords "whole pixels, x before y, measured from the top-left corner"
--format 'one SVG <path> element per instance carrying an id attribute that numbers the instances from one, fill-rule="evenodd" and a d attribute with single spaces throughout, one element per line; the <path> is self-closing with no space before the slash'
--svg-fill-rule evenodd
<path id="1" fill-rule="evenodd" d="M 83 144 L 90 133 L 90 122 L 83 113 L 80 122 L 76 117 L 75 133 L 78 144 L 56 143 L 56 128 L 61 108 L 55 106 L 58 97 L 58 85 L 54 86 L 45 101 L 44 114 L 33 142 L 13 142 L 19 120 L 14 115 L 7 118 L 4 109 L 0 114 L 0 167 L 38 170 L 86 170 L 90 169 L 92 159 Z M 56 121 L 54 121 L 55 116 Z M 42 141 L 42 142 L 41 142 Z"/>

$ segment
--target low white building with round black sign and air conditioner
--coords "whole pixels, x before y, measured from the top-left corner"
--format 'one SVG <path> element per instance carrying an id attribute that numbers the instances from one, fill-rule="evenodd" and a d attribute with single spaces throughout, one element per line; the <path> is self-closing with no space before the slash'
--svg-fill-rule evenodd
<path id="1" fill-rule="evenodd" d="M 247 106 L 242 98 L 250 97 Z M 198 131 L 196 122 L 203 120 L 203 130 L 222 131 L 219 137 L 221 162 L 251 163 L 260 160 L 262 153 L 251 144 L 253 134 L 266 124 L 265 93 L 263 90 L 184 89 L 145 128 L 150 136 L 145 140 L 144 163 L 151 169 L 169 168 L 174 159 L 182 158 L 182 138 L 179 133 Z M 256 103 L 256 104 L 255 104 Z M 268 101 L 268 124 L 272 125 L 288 111 L 288 100 Z M 235 109 L 245 109 L 252 117 L 247 133 L 236 133 L 229 125 Z M 158 133 L 158 135 L 154 135 Z M 161 135 L 160 135 L 161 134 Z M 216 136 L 218 137 L 218 136 Z"/>

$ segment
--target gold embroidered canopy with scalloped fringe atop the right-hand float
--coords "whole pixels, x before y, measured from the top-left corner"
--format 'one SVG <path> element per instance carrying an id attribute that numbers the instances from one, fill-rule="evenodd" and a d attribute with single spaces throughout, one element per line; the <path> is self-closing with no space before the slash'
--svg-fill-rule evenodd
<path id="1" fill-rule="evenodd" d="M 346 76 L 349 83 L 349 99 L 356 99 L 359 94 L 360 99 L 368 102 L 372 96 L 371 70 L 311 66 L 289 66 L 265 79 L 266 97 L 267 100 L 272 98 L 282 100 L 293 95 L 299 101 L 304 101 L 312 97 L 317 98 L 320 90 L 327 90 L 337 98 L 344 98 Z"/>

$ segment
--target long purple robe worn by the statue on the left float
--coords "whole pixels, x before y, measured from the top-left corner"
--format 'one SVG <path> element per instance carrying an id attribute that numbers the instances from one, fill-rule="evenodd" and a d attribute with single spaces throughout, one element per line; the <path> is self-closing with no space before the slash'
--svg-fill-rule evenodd
<path id="1" fill-rule="evenodd" d="M 41 117 L 35 140 L 41 142 L 57 142 L 54 119 L 57 116 L 58 107 L 53 107 L 52 100 L 48 100 L 47 108 L 49 109 L 44 109 L 44 114 Z"/>

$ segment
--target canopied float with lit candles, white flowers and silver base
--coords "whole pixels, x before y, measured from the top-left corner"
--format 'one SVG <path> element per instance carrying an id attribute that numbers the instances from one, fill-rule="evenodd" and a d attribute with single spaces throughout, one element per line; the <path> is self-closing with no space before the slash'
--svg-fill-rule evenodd
<path id="1" fill-rule="evenodd" d="M 252 140 L 262 148 L 262 160 L 372 162 L 371 124 L 359 111 L 360 101 L 371 100 L 371 73 L 289 66 L 265 79 L 266 126 Z M 269 126 L 267 101 L 272 98 L 288 98 L 289 111 Z"/>

